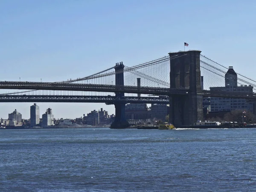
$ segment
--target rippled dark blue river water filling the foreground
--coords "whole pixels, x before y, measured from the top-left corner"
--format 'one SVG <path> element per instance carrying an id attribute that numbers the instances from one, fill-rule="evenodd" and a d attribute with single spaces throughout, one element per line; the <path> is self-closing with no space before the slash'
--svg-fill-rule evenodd
<path id="1" fill-rule="evenodd" d="M 0 130 L 0 191 L 255 191 L 256 129 Z"/>

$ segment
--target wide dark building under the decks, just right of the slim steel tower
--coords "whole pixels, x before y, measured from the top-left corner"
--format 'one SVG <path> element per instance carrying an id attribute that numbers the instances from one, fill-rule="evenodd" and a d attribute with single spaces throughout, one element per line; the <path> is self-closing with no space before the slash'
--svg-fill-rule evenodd
<path id="1" fill-rule="evenodd" d="M 130 103 L 125 105 L 125 118 L 126 119 L 150 119 L 151 111 L 148 109 L 147 104 L 134 104 Z"/>

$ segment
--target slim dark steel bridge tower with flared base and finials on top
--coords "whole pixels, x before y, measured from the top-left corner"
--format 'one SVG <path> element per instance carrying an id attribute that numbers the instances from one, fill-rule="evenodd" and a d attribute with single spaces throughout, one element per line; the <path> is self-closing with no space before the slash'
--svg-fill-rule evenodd
<path id="1" fill-rule="evenodd" d="M 117 63 L 115 66 L 116 72 L 116 86 L 118 89 L 123 89 L 124 87 L 124 65 L 122 62 Z M 115 93 L 117 99 L 123 99 L 125 93 Z M 111 128 L 127 128 L 129 123 L 125 118 L 125 104 L 126 102 L 114 102 L 116 108 L 116 116 L 114 122 L 111 124 Z"/>

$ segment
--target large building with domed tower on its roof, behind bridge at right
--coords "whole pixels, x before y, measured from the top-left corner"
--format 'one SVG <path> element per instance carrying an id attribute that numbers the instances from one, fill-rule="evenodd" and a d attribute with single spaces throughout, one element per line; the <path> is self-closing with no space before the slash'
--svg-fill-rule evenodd
<path id="1" fill-rule="evenodd" d="M 229 67 L 225 74 L 225 87 L 210 87 L 213 91 L 238 91 L 253 93 L 253 86 L 251 85 L 237 85 L 237 74 L 233 67 Z M 239 98 L 218 98 L 211 97 L 210 111 L 232 111 L 236 109 L 253 112 L 253 103 L 246 99 Z"/>

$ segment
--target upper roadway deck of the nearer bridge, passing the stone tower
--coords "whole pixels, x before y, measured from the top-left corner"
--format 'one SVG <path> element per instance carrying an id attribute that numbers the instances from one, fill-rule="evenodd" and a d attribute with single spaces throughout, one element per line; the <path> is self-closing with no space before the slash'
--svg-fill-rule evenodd
<path id="1" fill-rule="evenodd" d="M 188 95 L 189 90 L 184 88 L 165 88 L 165 87 L 140 87 L 104 84 L 78 84 L 67 82 L 28 82 L 28 81 L 0 81 L 0 89 L 21 89 L 21 90 L 68 90 L 68 91 L 96 91 L 113 93 L 141 93 L 151 95 Z M 241 99 L 256 99 L 256 93 L 246 93 L 238 91 L 211 91 L 202 90 L 204 97 L 226 97 Z"/>

